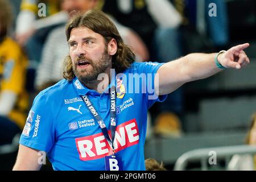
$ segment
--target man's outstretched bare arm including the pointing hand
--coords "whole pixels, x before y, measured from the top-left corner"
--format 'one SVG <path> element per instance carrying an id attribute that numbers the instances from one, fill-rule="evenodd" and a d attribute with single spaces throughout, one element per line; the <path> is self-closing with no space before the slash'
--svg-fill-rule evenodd
<path id="1" fill-rule="evenodd" d="M 217 61 L 225 68 L 240 69 L 249 64 L 249 58 L 243 49 L 249 43 L 234 46 L 220 53 Z M 191 53 L 180 59 L 170 61 L 159 68 L 159 95 L 168 94 L 189 81 L 212 76 L 223 69 L 217 67 L 214 58 L 217 53 Z M 155 82 L 155 85 L 158 85 Z"/>

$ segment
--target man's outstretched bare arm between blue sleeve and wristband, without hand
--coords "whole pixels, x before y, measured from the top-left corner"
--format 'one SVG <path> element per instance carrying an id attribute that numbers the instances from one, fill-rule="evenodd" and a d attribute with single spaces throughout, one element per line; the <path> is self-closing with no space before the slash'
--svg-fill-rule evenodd
<path id="1" fill-rule="evenodd" d="M 214 63 L 216 55 L 217 53 L 191 53 L 164 64 L 158 70 L 159 93 L 157 94 L 171 93 L 186 82 L 200 80 L 220 72 L 221 69 Z"/>

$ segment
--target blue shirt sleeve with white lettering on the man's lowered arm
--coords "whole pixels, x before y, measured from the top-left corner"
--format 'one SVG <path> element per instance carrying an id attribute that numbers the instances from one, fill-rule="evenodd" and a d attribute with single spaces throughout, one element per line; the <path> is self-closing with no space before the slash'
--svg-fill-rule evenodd
<path id="1" fill-rule="evenodd" d="M 23 146 L 46 152 L 51 150 L 55 142 L 55 119 L 48 100 L 42 94 L 35 98 L 20 137 L 19 143 Z"/>

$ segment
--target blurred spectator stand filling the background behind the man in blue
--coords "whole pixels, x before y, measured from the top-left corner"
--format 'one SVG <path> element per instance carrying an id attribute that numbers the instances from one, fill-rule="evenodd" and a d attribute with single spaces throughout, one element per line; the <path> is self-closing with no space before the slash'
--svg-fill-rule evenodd
<path id="1" fill-rule="evenodd" d="M 0 170 L 14 165 L 35 96 L 63 78 L 70 13 L 89 9 L 109 14 L 136 61 L 167 62 L 250 43 L 245 68 L 189 82 L 150 108 L 144 153 L 168 170 L 178 169 L 189 151 L 179 169 L 225 170 L 250 154 L 255 169 L 256 150 L 246 148 L 256 144 L 254 0 L 0 0 Z M 208 151 L 219 150 L 223 158 L 209 164 Z M 51 164 L 41 170 L 52 170 Z"/>

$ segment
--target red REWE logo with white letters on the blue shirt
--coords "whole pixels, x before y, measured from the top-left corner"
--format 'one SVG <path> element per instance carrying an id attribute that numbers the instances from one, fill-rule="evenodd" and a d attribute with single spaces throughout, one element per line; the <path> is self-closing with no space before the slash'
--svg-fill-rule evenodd
<path id="1" fill-rule="evenodd" d="M 109 131 L 111 136 L 111 132 Z M 139 143 L 139 129 L 136 119 L 117 126 L 115 130 L 115 152 Z M 81 160 L 94 160 L 112 155 L 112 147 L 102 133 L 76 138 L 76 147 Z"/>

